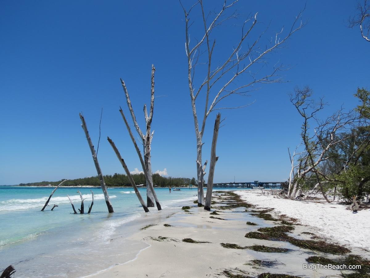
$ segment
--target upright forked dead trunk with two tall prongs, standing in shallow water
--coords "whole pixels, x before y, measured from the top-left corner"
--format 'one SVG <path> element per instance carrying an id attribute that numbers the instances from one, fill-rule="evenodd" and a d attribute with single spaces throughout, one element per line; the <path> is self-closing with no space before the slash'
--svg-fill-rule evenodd
<path id="1" fill-rule="evenodd" d="M 144 134 L 135 117 L 134 109 L 131 105 L 130 96 L 128 94 L 128 90 L 126 87 L 125 82 L 121 79 L 122 87 L 125 92 L 126 96 L 126 102 L 128 106 L 128 110 L 130 111 L 130 115 L 132 118 L 132 121 L 134 122 L 135 129 L 142 140 L 142 144 L 144 145 L 144 166 L 145 170 L 148 173 L 147 177 L 147 206 L 149 208 L 154 207 L 154 189 L 153 189 L 153 178 L 152 178 L 152 164 L 151 164 L 151 143 L 154 135 L 154 131 L 151 132 L 151 125 L 152 125 L 152 119 L 153 119 L 153 112 L 154 112 L 154 72 L 155 67 L 152 65 L 152 75 L 151 75 L 151 99 L 150 99 L 150 109 L 149 109 L 149 115 L 147 111 L 147 105 L 144 104 L 144 117 L 145 117 L 145 123 L 146 123 L 146 133 Z M 122 110 L 122 109 L 121 109 Z"/>

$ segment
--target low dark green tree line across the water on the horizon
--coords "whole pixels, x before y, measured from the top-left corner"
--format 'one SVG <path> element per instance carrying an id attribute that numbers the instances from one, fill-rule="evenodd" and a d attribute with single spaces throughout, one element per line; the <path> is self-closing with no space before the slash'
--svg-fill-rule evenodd
<path id="1" fill-rule="evenodd" d="M 135 184 L 141 185 L 146 184 L 145 175 L 144 173 L 132 174 L 132 178 L 135 181 Z M 164 177 L 155 173 L 152 175 L 153 177 L 153 184 L 158 185 L 159 187 L 168 187 L 168 186 L 189 186 L 189 184 L 195 185 L 196 180 L 195 178 L 175 178 L 175 177 Z M 20 183 L 19 186 L 42 186 L 42 185 L 53 185 L 57 186 L 60 181 L 49 182 L 49 181 L 42 181 L 42 182 L 29 182 L 29 183 Z M 114 186 L 131 186 L 131 183 L 128 179 L 127 175 L 114 173 L 114 175 L 104 175 L 104 181 L 107 186 L 114 187 Z M 100 186 L 100 179 L 98 176 L 91 176 L 79 179 L 71 179 L 65 181 L 63 186 L 77 186 L 77 185 L 92 185 L 92 186 Z"/>

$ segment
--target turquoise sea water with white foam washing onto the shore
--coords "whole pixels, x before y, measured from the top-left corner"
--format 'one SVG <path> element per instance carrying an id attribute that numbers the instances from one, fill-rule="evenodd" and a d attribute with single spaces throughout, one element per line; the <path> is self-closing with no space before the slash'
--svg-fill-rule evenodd
<path id="1" fill-rule="evenodd" d="M 91 214 L 73 214 L 94 192 Z M 217 189 L 219 190 L 219 189 Z M 236 190 L 236 189 L 233 189 Z M 134 259 L 148 245 L 125 238 L 142 226 L 164 219 L 183 205 L 194 205 L 197 189 L 169 193 L 156 188 L 162 211 L 145 213 L 133 188 L 108 188 L 113 214 L 108 214 L 100 188 L 58 188 L 45 211 L 41 208 L 53 188 L 0 186 L 0 269 L 12 264 L 17 277 L 83 277 Z M 146 199 L 146 188 L 139 189 Z M 53 205 L 58 205 L 50 211 Z M 97 263 L 98 262 L 98 263 Z"/>

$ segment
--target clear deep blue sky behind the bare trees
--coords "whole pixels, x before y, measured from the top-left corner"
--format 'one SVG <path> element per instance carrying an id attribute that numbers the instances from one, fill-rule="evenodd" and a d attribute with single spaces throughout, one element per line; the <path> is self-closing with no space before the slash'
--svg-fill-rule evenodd
<path id="1" fill-rule="evenodd" d="M 189 7 L 194 1 L 183 3 Z M 289 26 L 305 4 L 254 2 L 240 1 L 239 13 L 259 12 L 261 26 L 271 21 L 271 32 Z M 236 181 L 288 177 L 287 147 L 299 143 L 301 124 L 287 95 L 294 86 L 312 87 L 317 97 L 325 96 L 329 110 L 357 104 L 357 87 L 370 87 L 370 44 L 358 29 L 346 26 L 354 5 L 307 1 L 307 26 L 269 57 L 270 64 L 294 66 L 283 73 L 289 82 L 266 85 L 248 99 L 237 100 L 256 100 L 252 106 L 222 111 L 226 119 L 219 133 L 215 182 L 232 181 L 234 176 Z M 103 173 L 124 172 L 107 136 L 130 170 L 141 169 L 118 111 L 121 105 L 127 112 L 120 77 L 143 127 L 151 64 L 157 69 L 156 95 L 161 96 L 155 99 L 152 124 L 153 172 L 166 168 L 171 176 L 195 177 L 183 16 L 175 0 L 0 1 L 0 184 L 96 175 L 78 113 L 83 112 L 97 146 L 101 107 L 98 158 Z M 232 26 L 224 29 L 220 42 L 239 34 Z M 232 46 L 230 40 L 225 51 Z M 218 59 L 221 55 L 215 56 Z M 203 139 L 204 160 L 209 158 L 213 121 L 211 115 Z"/>

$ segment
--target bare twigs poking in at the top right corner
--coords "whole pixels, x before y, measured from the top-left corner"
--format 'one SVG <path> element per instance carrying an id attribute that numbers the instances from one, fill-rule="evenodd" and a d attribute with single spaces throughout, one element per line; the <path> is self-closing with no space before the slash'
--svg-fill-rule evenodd
<path id="1" fill-rule="evenodd" d="M 357 14 L 348 20 L 349 27 L 360 26 L 361 36 L 370 42 L 370 1 L 364 0 L 363 4 L 358 2 L 356 12 Z"/>

